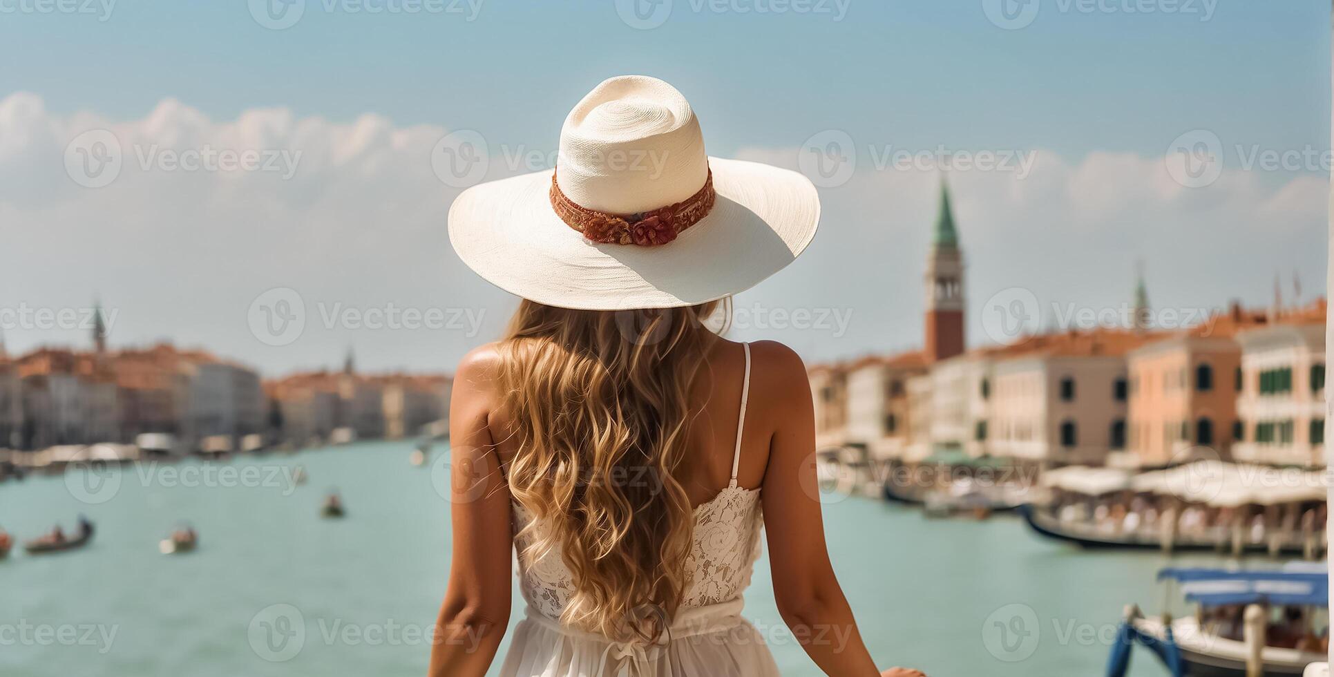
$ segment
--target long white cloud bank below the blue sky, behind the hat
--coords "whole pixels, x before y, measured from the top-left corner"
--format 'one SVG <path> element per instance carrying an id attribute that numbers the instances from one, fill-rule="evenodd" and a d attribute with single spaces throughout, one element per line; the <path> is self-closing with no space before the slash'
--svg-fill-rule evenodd
<path id="1" fill-rule="evenodd" d="M 123 148 L 121 173 L 104 188 L 84 188 L 65 171 L 65 147 L 88 129 L 112 132 Z M 219 121 L 172 99 L 120 121 L 55 115 L 37 96 L 9 95 L 0 100 L 0 237 L 9 255 L 0 307 L 81 308 L 97 295 L 120 312 L 113 344 L 173 337 L 265 370 L 332 365 L 350 345 L 368 366 L 447 368 L 494 337 L 512 301 L 450 249 L 444 220 L 458 191 L 431 164 L 446 132 L 374 113 L 335 123 L 285 108 Z M 205 147 L 299 152 L 299 160 L 289 179 L 140 167 L 163 151 Z M 506 149 L 491 151 L 488 177 L 516 171 Z M 739 156 L 796 165 L 795 149 Z M 1211 187 L 1186 189 L 1162 159 L 1093 153 L 1067 161 L 1038 151 L 1023 180 L 956 172 L 950 183 L 974 307 L 1009 287 L 1053 301 L 1121 303 L 1138 257 L 1149 264 L 1155 304 L 1263 300 L 1274 273 L 1293 268 L 1309 289 L 1323 280 L 1322 177 L 1226 171 Z M 862 167 L 848 184 L 822 189 L 824 223 L 808 255 L 738 305 L 850 311 L 846 336 L 779 323 L 766 329 L 751 316 L 755 329 L 744 337 L 786 340 L 816 358 L 916 344 L 936 185 L 931 172 Z M 249 333 L 245 313 L 279 287 L 300 292 L 307 328 L 289 345 L 269 346 Z M 320 303 L 464 309 L 484 323 L 478 336 L 325 329 Z M 7 341 L 25 349 L 87 337 L 11 329 Z"/>

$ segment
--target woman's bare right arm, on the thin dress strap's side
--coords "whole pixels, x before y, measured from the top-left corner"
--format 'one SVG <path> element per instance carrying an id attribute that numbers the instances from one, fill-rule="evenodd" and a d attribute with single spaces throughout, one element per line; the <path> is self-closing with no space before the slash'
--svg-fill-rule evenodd
<path id="1" fill-rule="evenodd" d="M 878 677 L 880 670 L 862 642 L 824 546 L 815 476 L 815 413 L 806 365 L 780 344 L 766 341 L 756 348 L 764 350 L 759 364 L 771 365 L 763 373 L 766 381 L 772 381 L 766 400 L 775 426 L 760 496 L 778 613 L 826 674 Z M 896 670 L 884 674 L 920 674 Z"/>

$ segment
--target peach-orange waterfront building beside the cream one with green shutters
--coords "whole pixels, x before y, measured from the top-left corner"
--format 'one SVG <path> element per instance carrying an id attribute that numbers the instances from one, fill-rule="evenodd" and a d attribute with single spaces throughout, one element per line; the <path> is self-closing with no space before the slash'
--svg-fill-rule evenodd
<path id="1" fill-rule="evenodd" d="M 1267 312 L 1234 303 L 1226 313 L 1129 354 L 1129 457 L 1134 464 L 1231 457 L 1241 368 L 1235 336 L 1267 321 Z"/>

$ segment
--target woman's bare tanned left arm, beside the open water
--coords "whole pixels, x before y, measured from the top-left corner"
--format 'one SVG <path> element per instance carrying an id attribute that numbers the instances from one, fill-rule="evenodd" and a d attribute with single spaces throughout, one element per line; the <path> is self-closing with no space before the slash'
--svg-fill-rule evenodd
<path id="1" fill-rule="evenodd" d="M 431 677 L 482 677 L 510 622 L 510 486 L 488 428 L 496 354 L 468 353 L 450 404 L 454 558 L 431 649 Z"/>

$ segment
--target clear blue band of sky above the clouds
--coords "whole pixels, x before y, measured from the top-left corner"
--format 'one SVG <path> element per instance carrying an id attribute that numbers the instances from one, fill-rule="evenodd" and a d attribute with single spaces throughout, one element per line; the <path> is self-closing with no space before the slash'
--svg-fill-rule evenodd
<path id="1" fill-rule="evenodd" d="M 572 88 L 643 72 L 682 88 L 706 121 L 744 121 L 707 128 L 719 152 L 824 128 L 1071 157 L 1158 152 L 1197 127 L 1269 145 L 1329 137 L 1319 1 L 1222 0 L 1201 21 L 1203 0 L 1138 15 L 1043 0 L 1018 31 L 992 25 L 978 0 L 850 0 L 842 21 L 832 4 L 760 15 L 675 0 L 650 31 L 626 27 L 610 0 L 488 0 L 472 21 L 308 1 L 283 31 L 260 28 L 236 1 L 120 0 L 107 21 L 11 15 L 0 92 L 40 93 L 56 112 L 131 117 L 175 96 L 217 117 L 277 105 L 334 120 L 378 112 L 546 141 Z"/>

